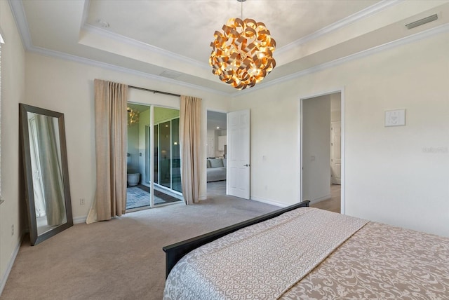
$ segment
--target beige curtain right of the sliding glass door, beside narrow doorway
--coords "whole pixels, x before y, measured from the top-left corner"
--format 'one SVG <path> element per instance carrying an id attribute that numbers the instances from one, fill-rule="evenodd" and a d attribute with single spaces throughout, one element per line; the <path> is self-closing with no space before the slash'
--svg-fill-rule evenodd
<path id="1" fill-rule="evenodd" d="M 181 96 L 181 183 L 185 204 L 199 202 L 201 168 L 201 99 Z"/>

